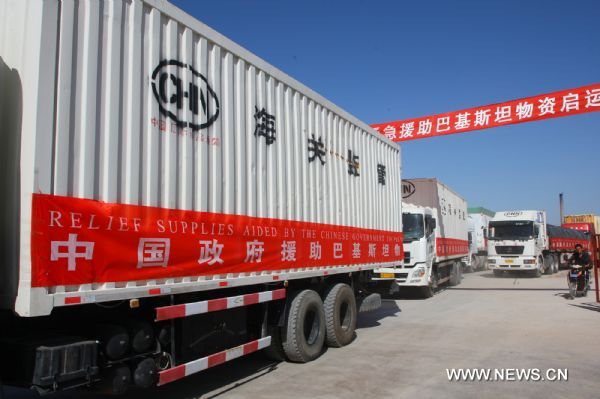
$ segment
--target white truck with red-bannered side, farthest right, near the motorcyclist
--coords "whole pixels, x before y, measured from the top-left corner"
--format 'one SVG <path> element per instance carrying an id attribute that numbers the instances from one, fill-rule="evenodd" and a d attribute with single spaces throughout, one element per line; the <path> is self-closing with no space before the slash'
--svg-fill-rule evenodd
<path id="1" fill-rule="evenodd" d="M 590 250 L 589 235 L 546 222 L 537 210 L 497 212 L 490 221 L 488 265 L 496 276 L 525 271 L 535 276 L 559 270 L 581 244 Z"/>

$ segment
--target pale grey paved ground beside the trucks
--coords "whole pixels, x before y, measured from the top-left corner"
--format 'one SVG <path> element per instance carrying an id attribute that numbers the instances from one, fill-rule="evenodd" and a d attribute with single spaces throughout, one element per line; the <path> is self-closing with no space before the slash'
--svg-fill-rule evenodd
<path id="1" fill-rule="evenodd" d="M 593 295 L 567 299 L 565 287 L 565 272 L 541 278 L 467 274 L 460 286 L 427 300 L 385 300 L 378 311 L 361 315 L 351 345 L 329 349 L 312 363 L 250 356 L 127 397 L 597 398 L 600 306 Z M 542 376 L 549 368 L 568 369 L 568 381 L 450 382 L 451 368 L 537 368 Z"/>

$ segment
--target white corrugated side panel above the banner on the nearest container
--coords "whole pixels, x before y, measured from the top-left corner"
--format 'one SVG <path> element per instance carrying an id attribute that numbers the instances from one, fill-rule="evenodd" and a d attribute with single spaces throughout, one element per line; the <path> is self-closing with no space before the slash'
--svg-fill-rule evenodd
<path id="1" fill-rule="evenodd" d="M 393 190 L 374 190 L 377 162 L 396 150 L 364 126 L 149 3 L 60 5 L 54 178 L 39 186 L 107 202 L 392 227 L 384 200 L 391 202 Z M 160 114 L 151 74 L 161 60 L 208 77 L 219 100 L 219 117 L 199 132 L 208 143 L 187 130 L 171 132 L 169 119 L 167 132 L 153 125 Z M 190 76 L 177 72 L 185 87 Z M 252 134 L 263 108 L 275 117 L 274 145 Z M 198 118 L 186 104 L 177 116 Z M 324 166 L 307 161 L 312 135 L 328 150 Z M 348 150 L 359 156 L 359 178 L 346 171 Z M 399 168 L 398 159 L 386 161 L 389 170 Z M 302 187 L 306 198 L 296 195 Z"/>

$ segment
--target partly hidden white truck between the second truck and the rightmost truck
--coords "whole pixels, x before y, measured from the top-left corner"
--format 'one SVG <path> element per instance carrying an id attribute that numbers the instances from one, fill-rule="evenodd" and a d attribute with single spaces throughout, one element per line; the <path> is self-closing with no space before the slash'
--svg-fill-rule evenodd
<path id="1" fill-rule="evenodd" d="M 469 214 L 469 257 L 467 270 L 484 270 L 487 268 L 488 225 L 496 212 L 478 206 L 468 208 Z"/>

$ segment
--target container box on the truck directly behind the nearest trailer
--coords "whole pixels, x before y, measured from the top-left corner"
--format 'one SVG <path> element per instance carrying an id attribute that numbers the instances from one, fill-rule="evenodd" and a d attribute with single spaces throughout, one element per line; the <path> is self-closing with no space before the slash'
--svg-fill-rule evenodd
<path id="1" fill-rule="evenodd" d="M 406 179 L 404 202 L 437 209 L 436 234 L 439 260 L 462 258 L 468 253 L 467 202 L 437 179 Z M 441 245 L 454 246 L 446 250 L 448 256 L 439 255 Z M 457 248 L 464 248 L 465 251 Z"/>

